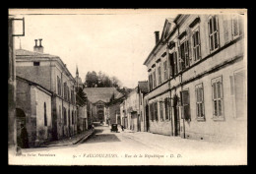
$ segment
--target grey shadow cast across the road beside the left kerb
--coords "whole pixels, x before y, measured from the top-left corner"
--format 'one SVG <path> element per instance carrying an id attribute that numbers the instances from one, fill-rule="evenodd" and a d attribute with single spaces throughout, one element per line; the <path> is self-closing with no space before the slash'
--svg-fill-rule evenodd
<path id="1" fill-rule="evenodd" d="M 121 142 L 114 134 L 94 134 L 86 144 Z"/>

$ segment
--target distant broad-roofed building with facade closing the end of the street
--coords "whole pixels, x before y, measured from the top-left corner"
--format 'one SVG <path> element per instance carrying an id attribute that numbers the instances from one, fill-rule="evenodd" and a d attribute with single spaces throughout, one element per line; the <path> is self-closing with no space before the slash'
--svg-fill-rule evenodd
<path id="1" fill-rule="evenodd" d="M 115 87 L 86 87 L 84 92 L 87 94 L 88 99 L 93 104 L 93 122 L 104 122 L 107 123 L 107 120 L 110 118 L 110 112 L 106 104 L 110 102 L 112 98 L 119 98 L 122 96 L 122 93 L 117 91 Z M 110 115 L 106 116 L 105 113 Z"/>

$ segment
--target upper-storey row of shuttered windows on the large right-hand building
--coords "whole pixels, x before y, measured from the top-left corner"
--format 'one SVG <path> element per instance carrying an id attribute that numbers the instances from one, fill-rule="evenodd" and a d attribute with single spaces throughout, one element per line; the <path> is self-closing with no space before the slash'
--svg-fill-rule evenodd
<path id="1" fill-rule="evenodd" d="M 197 23 L 200 23 L 200 20 L 195 20 Z M 239 18 L 238 15 L 235 15 L 232 17 L 232 36 L 233 38 L 236 38 L 237 36 L 242 34 L 242 21 Z M 194 26 L 193 26 L 194 27 Z M 192 28 L 192 27 L 191 27 Z M 209 47 L 210 52 L 216 51 L 218 48 L 220 48 L 220 30 L 219 30 L 219 19 L 218 16 L 211 16 L 209 18 L 208 23 L 208 30 L 209 30 Z M 159 67 L 155 69 L 156 64 L 152 67 L 152 73 L 149 75 L 149 87 L 150 90 L 153 88 L 160 86 L 163 82 L 165 82 L 168 79 L 168 73 L 167 69 L 169 69 L 169 77 L 176 76 L 179 72 L 185 70 L 188 68 L 191 64 L 192 57 L 194 62 L 197 62 L 202 58 L 201 54 L 201 38 L 200 38 L 200 28 L 199 26 L 196 29 L 193 29 L 191 40 L 189 37 L 185 37 L 186 31 L 182 32 L 179 36 L 179 45 L 177 46 L 177 51 L 172 51 L 171 53 L 168 53 L 167 51 L 167 59 L 163 61 L 162 67 L 163 67 L 163 81 L 161 80 L 161 63 L 159 64 Z M 191 43 L 190 43 L 191 41 Z M 172 41 L 169 43 L 171 47 L 175 46 L 175 43 Z M 192 55 L 190 55 L 190 44 L 192 48 Z M 165 56 L 166 54 L 164 54 Z M 161 56 L 161 57 L 164 57 Z M 157 63 L 160 62 L 160 59 L 158 59 Z M 168 63 L 167 63 L 168 62 Z M 156 73 L 157 71 L 157 73 Z M 158 77 L 157 77 L 158 76 Z M 158 78 L 158 84 L 157 84 L 157 78 Z"/>

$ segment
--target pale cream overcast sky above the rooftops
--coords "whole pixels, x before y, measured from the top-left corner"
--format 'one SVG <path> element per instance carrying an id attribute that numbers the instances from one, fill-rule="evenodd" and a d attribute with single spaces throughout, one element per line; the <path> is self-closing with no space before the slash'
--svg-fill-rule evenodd
<path id="1" fill-rule="evenodd" d="M 88 71 L 116 76 L 124 87 L 136 87 L 147 80 L 144 61 L 155 46 L 156 30 L 162 31 L 165 18 L 174 18 L 171 10 L 129 14 L 79 12 L 80 15 L 24 15 L 25 36 L 16 37 L 15 46 L 31 50 L 34 39 L 42 38 L 44 53 L 59 56 L 75 77 L 78 65 L 83 83 Z M 47 12 L 50 13 L 50 12 Z M 47 14 L 46 13 L 46 14 Z M 19 13 L 18 13 L 19 14 Z M 51 13 L 52 14 L 52 13 Z"/>

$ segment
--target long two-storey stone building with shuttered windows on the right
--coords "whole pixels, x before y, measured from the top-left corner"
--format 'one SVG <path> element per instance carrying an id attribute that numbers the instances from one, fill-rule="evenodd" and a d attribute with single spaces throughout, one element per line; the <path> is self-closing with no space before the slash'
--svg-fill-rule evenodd
<path id="1" fill-rule="evenodd" d="M 144 63 L 150 132 L 209 141 L 246 139 L 244 22 L 239 14 L 178 15 L 169 22 L 172 28 L 165 22 Z M 167 80 L 161 81 L 165 72 Z"/>

